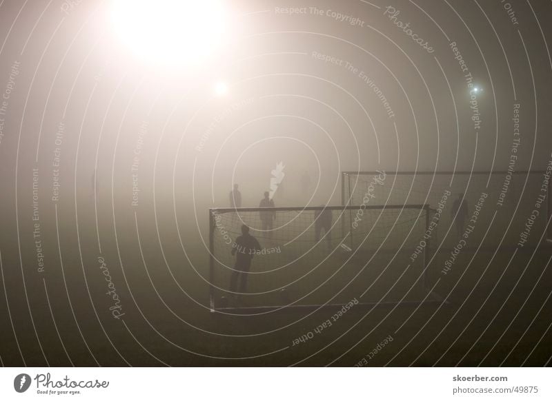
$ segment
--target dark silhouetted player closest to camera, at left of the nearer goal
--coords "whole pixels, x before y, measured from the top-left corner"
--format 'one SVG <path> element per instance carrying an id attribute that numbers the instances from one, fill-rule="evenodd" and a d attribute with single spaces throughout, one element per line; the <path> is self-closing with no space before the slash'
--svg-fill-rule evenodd
<path id="1" fill-rule="evenodd" d="M 242 225 L 242 235 L 236 238 L 233 243 L 232 255 L 236 255 L 234 271 L 230 277 L 230 291 L 235 293 L 239 282 L 239 292 L 247 291 L 247 276 L 251 267 L 251 259 L 255 256 L 255 251 L 261 249 L 257 238 L 249 234 L 249 227 Z M 233 294 L 237 298 L 238 294 Z"/>

